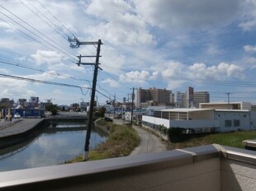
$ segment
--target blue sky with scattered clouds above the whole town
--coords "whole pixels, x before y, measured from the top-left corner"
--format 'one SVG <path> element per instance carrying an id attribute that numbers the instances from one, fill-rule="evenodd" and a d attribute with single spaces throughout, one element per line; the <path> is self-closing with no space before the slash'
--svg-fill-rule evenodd
<path id="1" fill-rule="evenodd" d="M 0 0 L 0 98 L 89 101 L 94 67 L 77 56 L 97 46 L 71 49 L 76 37 L 102 40 L 100 104 L 133 87 L 187 86 L 256 104 L 255 34 L 256 0 Z"/>

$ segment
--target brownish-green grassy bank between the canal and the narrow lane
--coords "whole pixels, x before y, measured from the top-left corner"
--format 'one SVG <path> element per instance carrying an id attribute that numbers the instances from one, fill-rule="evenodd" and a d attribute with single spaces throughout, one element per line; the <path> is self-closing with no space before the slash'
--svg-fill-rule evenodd
<path id="1" fill-rule="evenodd" d="M 101 128 L 108 133 L 109 137 L 106 142 L 102 142 L 94 150 L 89 151 L 88 161 L 128 156 L 140 144 L 138 133 L 133 128 L 130 128 L 130 126 L 118 125 L 107 122 L 104 119 L 97 120 L 95 125 L 97 128 Z M 81 154 L 69 161 L 65 161 L 64 164 L 82 161 L 83 155 Z"/>

